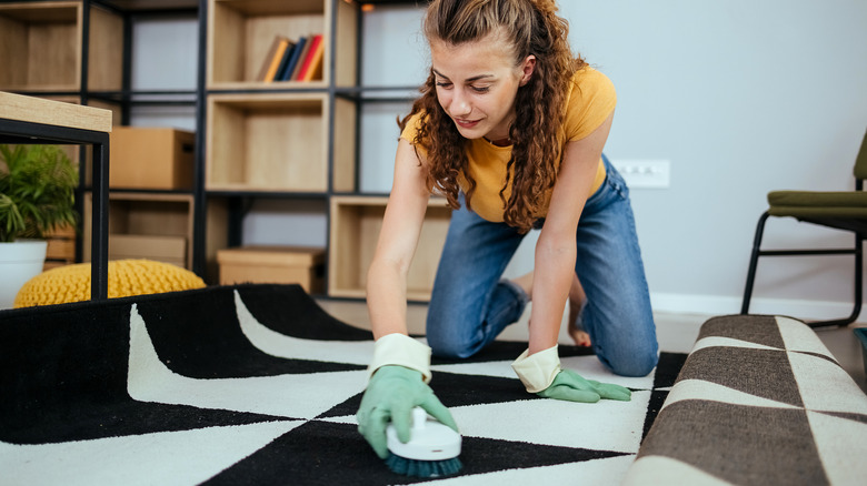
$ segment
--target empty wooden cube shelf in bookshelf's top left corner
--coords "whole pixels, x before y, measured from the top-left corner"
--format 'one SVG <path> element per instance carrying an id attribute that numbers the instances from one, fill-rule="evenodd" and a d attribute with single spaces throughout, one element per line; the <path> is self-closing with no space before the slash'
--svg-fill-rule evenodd
<path id="1" fill-rule="evenodd" d="M 81 89 L 83 6 L 78 1 L 0 3 L 0 90 Z M 123 19 L 90 9 L 88 89 L 120 90 Z"/>

